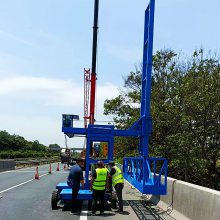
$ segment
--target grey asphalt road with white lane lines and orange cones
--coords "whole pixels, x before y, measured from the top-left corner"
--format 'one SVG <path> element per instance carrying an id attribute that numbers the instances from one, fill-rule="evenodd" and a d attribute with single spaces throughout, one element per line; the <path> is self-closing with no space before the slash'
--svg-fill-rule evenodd
<path id="1" fill-rule="evenodd" d="M 70 215 L 70 211 L 64 210 L 62 205 L 59 209 L 52 210 L 52 191 L 59 182 L 66 181 L 68 175 L 68 171 L 61 166 L 63 165 L 60 165 L 60 171 L 56 171 L 57 164 L 52 164 L 52 174 L 48 174 L 49 165 L 39 166 L 40 180 L 34 179 L 35 167 L 0 172 L 0 219 L 172 219 L 166 212 L 146 202 L 142 195 L 127 183 L 123 190 L 123 214 L 116 214 L 111 210 L 102 216 L 90 216 L 86 201 L 81 205 L 80 215 Z"/>

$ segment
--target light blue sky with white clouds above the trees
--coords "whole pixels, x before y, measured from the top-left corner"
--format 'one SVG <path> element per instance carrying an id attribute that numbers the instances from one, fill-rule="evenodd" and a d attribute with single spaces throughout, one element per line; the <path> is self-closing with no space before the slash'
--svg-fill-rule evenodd
<path id="1" fill-rule="evenodd" d="M 96 120 L 142 60 L 148 0 L 100 0 Z M 93 0 L 0 0 L 0 130 L 65 145 L 62 114 L 83 127 L 83 74 L 91 68 Z M 220 51 L 220 1 L 156 0 L 154 52 Z M 82 147 L 82 139 L 68 140 Z"/>

